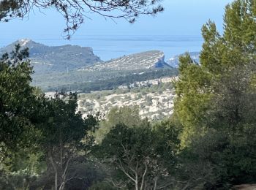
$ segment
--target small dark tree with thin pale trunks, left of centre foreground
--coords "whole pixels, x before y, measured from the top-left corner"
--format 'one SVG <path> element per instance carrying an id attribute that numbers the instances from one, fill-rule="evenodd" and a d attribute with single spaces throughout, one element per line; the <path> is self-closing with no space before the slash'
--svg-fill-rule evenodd
<path id="1" fill-rule="evenodd" d="M 44 100 L 45 121 L 39 125 L 43 136 L 39 145 L 48 161 L 49 175 L 55 175 L 54 189 L 64 189 L 71 183 L 75 176 L 70 176 L 70 165 L 84 156 L 80 151 L 88 151 L 92 139 L 87 134 L 97 125 L 97 119 L 91 115 L 83 120 L 77 112 L 77 102 L 78 95 L 72 93 L 56 93 L 54 98 Z"/>

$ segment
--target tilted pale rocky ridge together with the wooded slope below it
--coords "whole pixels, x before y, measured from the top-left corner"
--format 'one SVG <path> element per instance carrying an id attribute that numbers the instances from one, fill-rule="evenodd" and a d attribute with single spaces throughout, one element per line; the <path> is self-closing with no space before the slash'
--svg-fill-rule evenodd
<path id="1" fill-rule="evenodd" d="M 164 54 L 151 51 L 132 54 L 110 61 L 98 62 L 83 69 L 33 75 L 33 85 L 44 91 L 101 91 L 117 88 L 126 83 L 174 77 L 177 69 L 168 66 Z"/>

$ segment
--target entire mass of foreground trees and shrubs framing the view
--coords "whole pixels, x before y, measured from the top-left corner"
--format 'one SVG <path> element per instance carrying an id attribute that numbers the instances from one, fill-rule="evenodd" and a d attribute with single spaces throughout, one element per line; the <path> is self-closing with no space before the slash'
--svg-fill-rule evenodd
<path id="1" fill-rule="evenodd" d="M 0 61 L 1 189 L 230 189 L 256 183 L 256 3 L 226 7 L 225 30 L 203 26 L 200 64 L 181 56 L 174 114 L 138 107 L 103 120 L 77 94 L 31 87 L 27 50 Z"/>

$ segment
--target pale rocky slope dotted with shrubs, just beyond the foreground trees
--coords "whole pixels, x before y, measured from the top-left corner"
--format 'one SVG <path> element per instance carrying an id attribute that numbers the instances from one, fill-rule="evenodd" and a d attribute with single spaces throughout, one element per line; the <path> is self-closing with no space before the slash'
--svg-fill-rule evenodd
<path id="1" fill-rule="evenodd" d="M 79 94 L 78 110 L 83 117 L 97 111 L 106 115 L 112 107 L 138 106 L 140 115 L 149 120 L 158 120 L 173 113 L 173 77 L 134 83 L 128 88 L 120 86 L 112 91 L 94 91 Z M 136 85 L 135 85 L 136 84 Z M 136 87 L 135 87 L 136 86 Z"/>

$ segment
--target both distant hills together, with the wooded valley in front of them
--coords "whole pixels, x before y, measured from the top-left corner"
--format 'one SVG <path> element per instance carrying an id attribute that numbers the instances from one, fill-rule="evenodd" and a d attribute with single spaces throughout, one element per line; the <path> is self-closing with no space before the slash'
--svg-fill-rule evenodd
<path id="1" fill-rule="evenodd" d="M 177 69 L 165 63 L 165 55 L 159 50 L 101 61 L 91 47 L 50 47 L 30 39 L 20 39 L 2 47 L 0 54 L 10 53 L 18 43 L 29 47 L 35 71 L 32 85 L 43 91 L 112 90 L 122 85 L 178 75 Z"/>

